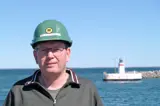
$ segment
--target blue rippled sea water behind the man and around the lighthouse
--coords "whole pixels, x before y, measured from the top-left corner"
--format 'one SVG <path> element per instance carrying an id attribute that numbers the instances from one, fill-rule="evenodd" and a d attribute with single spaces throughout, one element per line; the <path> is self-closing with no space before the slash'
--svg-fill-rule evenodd
<path id="1" fill-rule="evenodd" d="M 103 72 L 114 72 L 114 68 L 75 68 L 79 76 L 92 80 L 97 86 L 104 106 L 160 106 L 160 79 L 143 79 L 134 82 L 103 82 Z M 128 71 L 160 70 L 158 67 L 128 68 Z M 0 106 L 17 80 L 31 75 L 34 69 L 0 70 Z"/>

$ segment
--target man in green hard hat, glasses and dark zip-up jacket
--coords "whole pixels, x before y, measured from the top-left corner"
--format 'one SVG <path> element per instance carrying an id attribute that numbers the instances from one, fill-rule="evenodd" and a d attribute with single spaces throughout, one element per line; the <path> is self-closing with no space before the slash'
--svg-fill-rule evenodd
<path id="1" fill-rule="evenodd" d="M 72 40 L 61 22 L 40 23 L 31 45 L 40 69 L 13 85 L 4 106 L 103 106 L 96 86 L 66 68 Z"/>

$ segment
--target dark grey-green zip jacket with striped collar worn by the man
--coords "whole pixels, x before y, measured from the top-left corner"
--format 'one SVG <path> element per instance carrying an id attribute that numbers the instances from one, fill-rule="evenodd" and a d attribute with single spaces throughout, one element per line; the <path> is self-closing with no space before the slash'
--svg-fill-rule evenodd
<path id="1" fill-rule="evenodd" d="M 103 106 L 96 86 L 88 79 L 78 77 L 72 70 L 67 83 L 55 99 L 38 82 L 40 70 L 17 81 L 10 89 L 3 106 Z"/>

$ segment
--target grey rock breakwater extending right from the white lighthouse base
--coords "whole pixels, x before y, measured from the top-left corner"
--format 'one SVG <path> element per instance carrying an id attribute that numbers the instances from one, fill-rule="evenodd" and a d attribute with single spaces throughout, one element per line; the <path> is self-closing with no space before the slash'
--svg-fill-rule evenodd
<path id="1" fill-rule="evenodd" d="M 141 71 L 142 78 L 160 78 L 160 70 Z"/>

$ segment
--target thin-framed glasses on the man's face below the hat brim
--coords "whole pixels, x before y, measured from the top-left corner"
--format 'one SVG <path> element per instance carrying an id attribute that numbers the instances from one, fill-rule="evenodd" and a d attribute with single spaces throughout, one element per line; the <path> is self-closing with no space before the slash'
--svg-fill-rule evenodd
<path id="1" fill-rule="evenodd" d="M 66 48 L 37 48 L 41 54 L 47 55 L 50 51 L 54 54 L 54 56 L 59 56 L 62 54 L 62 51 Z"/>

